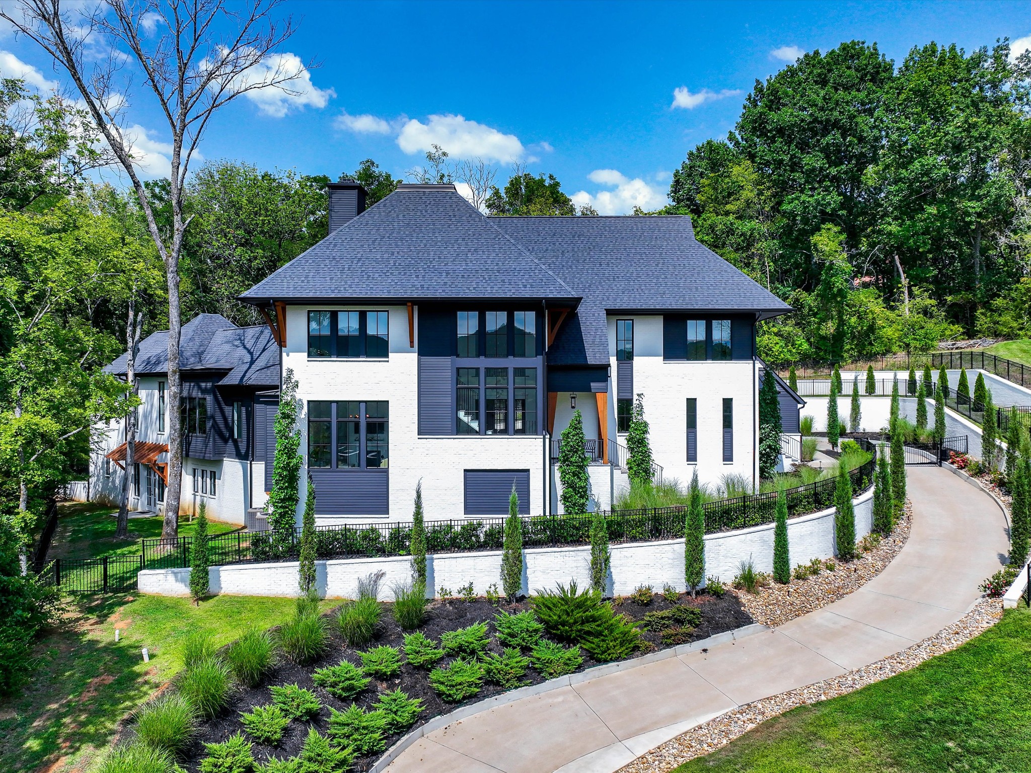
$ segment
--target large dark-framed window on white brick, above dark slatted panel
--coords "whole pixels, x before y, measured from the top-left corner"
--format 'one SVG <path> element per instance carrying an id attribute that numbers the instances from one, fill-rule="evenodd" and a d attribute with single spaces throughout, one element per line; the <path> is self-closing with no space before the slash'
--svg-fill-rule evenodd
<path id="1" fill-rule="evenodd" d="M 308 467 L 386 468 L 389 459 L 386 400 L 308 402 Z"/>

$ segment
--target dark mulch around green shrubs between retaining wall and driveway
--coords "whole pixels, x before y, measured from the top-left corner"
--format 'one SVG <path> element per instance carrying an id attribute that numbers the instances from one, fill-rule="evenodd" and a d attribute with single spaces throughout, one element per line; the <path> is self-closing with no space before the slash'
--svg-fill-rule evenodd
<path id="1" fill-rule="evenodd" d="M 642 606 L 631 601 L 629 597 L 617 599 L 616 603 L 617 610 L 619 612 L 625 613 L 635 620 L 640 619 L 647 612 L 669 609 L 676 604 L 694 605 L 698 607 L 702 613 L 702 620 L 701 624 L 692 632 L 691 641 L 704 639 L 717 633 L 747 626 L 753 621 L 752 617 L 750 617 L 747 612 L 742 609 L 740 602 L 733 594 L 726 594 L 721 598 L 709 596 L 707 594 L 699 594 L 695 599 L 692 599 L 690 594 L 680 594 L 675 602 L 667 601 L 661 595 L 656 594 L 651 603 L 646 606 Z M 479 621 L 492 621 L 498 609 L 504 609 L 508 612 L 519 612 L 528 608 L 529 603 L 525 600 L 516 604 L 502 603 L 499 607 L 492 606 L 485 599 L 476 599 L 472 602 L 463 600 L 433 601 L 428 607 L 427 620 L 420 628 L 420 631 L 422 631 L 429 638 L 438 640 L 440 634 L 444 631 L 454 631 Z M 335 617 L 331 617 L 331 621 L 335 624 Z M 253 751 L 257 762 L 264 764 L 271 757 L 294 757 L 300 751 L 300 748 L 307 737 L 308 728 L 312 725 L 317 730 L 319 730 L 320 733 L 325 735 L 329 728 L 330 707 L 335 708 L 338 711 L 342 711 L 351 706 L 352 701 L 338 700 L 330 696 L 321 687 L 315 686 L 311 681 L 311 673 L 317 668 L 333 666 L 341 660 L 347 660 L 356 666 L 361 666 L 361 659 L 356 654 L 356 650 L 354 648 L 345 645 L 337 631 L 336 626 L 332 625 L 330 630 L 331 646 L 329 654 L 322 661 L 312 664 L 311 666 L 302 667 L 296 666 L 288 661 L 280 660 L 280 663 L 269 674 L 262 686 L 239 690 L 234 695 L 233 700 L 231 700 L 229 707 L 223 711 L 220 716 L 202 725 L 200 733 L 185 755 L 186 759 L 182 763 L 184 767 L 188 771 L 197 771 L 200 766 L 200 761 L 206 757 L 203 745 L 204 743 L 225 741 L 235 733 L 242 732 L 243 728 L 240 725 L 239 712 L 250 711 L 254 706 L 263 706 L 271 703 L 272 696 L 269 691 L 269 685 L 273 684 L 293 684 L 296 682 L 301 687 L 306 687 L 312 691 L 323 702 L 323 710 L 318 719 L 313 722 L 309 724 L 296 719 L 291 721 L 284 733 L 282 740 L 276 747 L 270 747 L 254 742 Z M 493 625 L 488 627 L 488 633 L 491 635 L 490 651 L 501 652 L 502 648 L 494 638 Z M 647 642 L 646 649 L 648 651 L 664 648 L 659 640 L 658 634 L 644 632 L 643 638 Z M 380 618 L 378 636 L 369 646 L 372 647 L 379 644 L 390 644 L 398 647 L 403 646 L 404 644 L 404 632 L 401 631 L 391 616 L 389 605 L 385 605 L 384 614 Z M 363 649 L 365 649 L 365 647 L 363 647 Z M 591 668 L 592 666 L 598 665 L 595 661 L 591 660 L 586 652 L 583 650 L 580 651 L 585 658 L 583 665 L 577 669 L 577 671 L 583 671 Z M 444 658 L 438 665 L 446 665 L 453 660 L 454 659 L 451 657 Z M 402 663 L 401 673 L 397 677 L 387 681 L 373 679 L 373 681 L 369 684 L 369 687 L 354 702 L 362 708 L 369 709 L 372 704 L 375 703 L 380 693 L 397 688 L 403 690 L 410 698 L 421 698 L 423 700 L 424 711 L 419 715 L 419 721 L 412 726 L 412 728 L 417 728 L 438 714 L 448 713 L 459 706 L 475 703 L 484 700 L 485 698 L 490 698 L 491 696 L 499 695 L 505 692 L 502 687 L 485 681 L 484 688 L 476 696 L 470 698 L 464 703 L 444 703 L 437 697 L 437 694 L 430 688 L 428 676 L 429 672 L 427 670 L 412 668 L 406 663 Z M 526 679 L 531 684 L 538 684 L 544 681 L 544 677 L 533 669 L 530 669 L 527 672 Z M 404 731 L 404 733 L 408 733 L 410 730 L 411 729 Z M 387 748 L 390 748 L 401 737 L 401 735 L 403 734 L 395 734 L 387 737 Z M 250 739 L 248 737 L 248 740 L 253 741 L 254 739 Z M 367 771 L 372 767 L 378 757 L 378 754 L 375 754 L 360 758 L 356 760 L 353 769 L 356 771 Z"/>

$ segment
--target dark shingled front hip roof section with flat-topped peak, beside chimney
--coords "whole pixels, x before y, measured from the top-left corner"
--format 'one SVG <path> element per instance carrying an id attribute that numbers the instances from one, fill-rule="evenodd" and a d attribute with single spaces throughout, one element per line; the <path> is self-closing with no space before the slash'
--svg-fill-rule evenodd
<path id="1" fill-rule="evenodd" d="M 454 186 L 404 186 L 241 300 L 576 299 Z"/>

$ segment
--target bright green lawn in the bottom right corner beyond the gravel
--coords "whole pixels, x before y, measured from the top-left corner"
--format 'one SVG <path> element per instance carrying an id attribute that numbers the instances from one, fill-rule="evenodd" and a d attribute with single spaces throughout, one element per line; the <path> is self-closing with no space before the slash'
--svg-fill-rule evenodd
<path id="1" fill-rule="evenodd" d="M 1031 770 L 1031 613 L 841 698 L 764 722 L 676 773 Z"/>

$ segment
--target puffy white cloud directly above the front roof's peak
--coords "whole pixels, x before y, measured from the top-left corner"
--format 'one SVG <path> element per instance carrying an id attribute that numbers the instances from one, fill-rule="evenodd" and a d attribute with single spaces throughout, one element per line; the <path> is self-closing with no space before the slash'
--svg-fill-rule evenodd
<path id="1" fill-rule="evenodd" d="M 523 158 L 523 143 L 514 134 L 503 134 L 462 115 L 430 115 L 427 123 L 411 119 L 401 127 L 397 144 L 409 156 L 440 145 L 452 158 L 480 158 L 509 163 Z"/>

